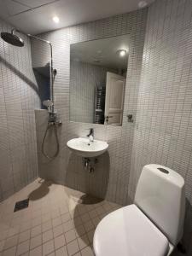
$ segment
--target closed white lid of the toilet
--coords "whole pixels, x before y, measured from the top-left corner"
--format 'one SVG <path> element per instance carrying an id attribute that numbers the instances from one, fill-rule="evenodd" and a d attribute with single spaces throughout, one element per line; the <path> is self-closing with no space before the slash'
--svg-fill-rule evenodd
<path id="1" fill-rule="evenodd" d="M 96 256 L 164 256 L 169 242 L 136 206 L 109 213 L 97 225 Z"/>

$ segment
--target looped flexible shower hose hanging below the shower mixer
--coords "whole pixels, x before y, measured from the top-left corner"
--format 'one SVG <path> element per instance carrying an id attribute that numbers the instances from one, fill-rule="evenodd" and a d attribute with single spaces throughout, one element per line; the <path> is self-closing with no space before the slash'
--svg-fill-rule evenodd
<path id="1" fill-rule="evenodd" d="M 55 150 L 55 154 L 54 155 L 49 155 L 45 153 L 45 149 L 44 149 L 44 143 L 46 140 L 46 137 L 48 135 L 48 131 L 50 128 L 53 128 L 54 130 L 54 134 L 55 134 L 55 141 L 56 141 L 56 150 Z M 56 127 L 56 123 L 55 122 L 48 122 L 46 131 L 44 132 L 44 139 L 43 139 L 43 143 L 42 143 L 42 153 L 44 154 L 44 156 L 49 159 L 49 160 L 53 160 L 55 159 L 55 157 L 59 154 L 59 150 L 60 150 L 60 145 L 59 145 L 59 139 L 58 139 L 58 135 L 57 135 L 57 127 Z"/>

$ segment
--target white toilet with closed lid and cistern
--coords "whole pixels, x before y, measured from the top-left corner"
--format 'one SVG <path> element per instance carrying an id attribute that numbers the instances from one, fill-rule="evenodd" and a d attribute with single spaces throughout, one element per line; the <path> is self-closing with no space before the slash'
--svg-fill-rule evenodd
<path id="1" fill-rule="evenodd" d="M 165 166 L 144 166 L 134 204 L 97 225 L 96 256 L 170 255 L 183 236 L 184 212 L 183 177 Z"/>

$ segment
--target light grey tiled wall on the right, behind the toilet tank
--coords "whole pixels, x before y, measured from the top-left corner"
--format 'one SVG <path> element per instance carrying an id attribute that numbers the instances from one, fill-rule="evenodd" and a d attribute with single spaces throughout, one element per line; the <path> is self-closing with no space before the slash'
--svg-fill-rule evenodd
<path id="1" fill-rule="evenodd" d="M 168 166 L 185 179 L 184 241 L 187 255 L 192 255 L 192 2 L 188 0 L 159 0 L 148 9 L 131 198 L 143 166 L 149 163 Z"/>

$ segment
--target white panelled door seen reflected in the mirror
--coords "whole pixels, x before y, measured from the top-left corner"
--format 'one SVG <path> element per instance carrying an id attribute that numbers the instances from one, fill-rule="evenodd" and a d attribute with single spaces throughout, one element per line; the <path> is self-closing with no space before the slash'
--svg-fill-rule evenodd
<path id="1" fill-rule="evenodd" d="M 121 125 L 125 95 L 125 77 L 107 73 L 105 125 Z"/>

